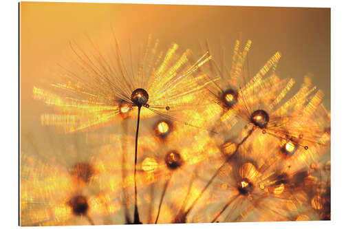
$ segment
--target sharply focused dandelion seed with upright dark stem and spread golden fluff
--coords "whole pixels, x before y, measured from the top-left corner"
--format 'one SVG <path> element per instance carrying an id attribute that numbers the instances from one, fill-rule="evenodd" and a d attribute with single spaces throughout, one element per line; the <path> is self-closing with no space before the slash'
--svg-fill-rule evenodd
<path id="1" fill-rule="evenodd" d="M 114 38 L 114 62 L 111 58 L 105 58 L 97 47 L 94 47 L 94 53 L 87 54 L 77 46 L 71 45 L 77 57 L 77 61 L 74 63 L 80 69 L 67 69 L 68 75 L 65 83 L 52 84 L 53 87 L 67 95 L 56 96 L 36 87 L 34 88 L 34 95 L 48 105 L 53 105 L 58 111 L 62 111 L 65 114 L 64 118 L 69 118 L 69 113 L 78 113 L 78 117 L 76 117 L 78 122 L 74 120 L 67 122 L 65 128 L 68 132 L 113 122 L 117 114 L 120 113 L 123 116 L 123 113 L 129 112 L 126 108 L 123 109 L 122 101 L 127 102 L 129 107 L 137 107 L 134 155 L 136 165 L 141 108 L 147 109 L 146 112 L 148 113 L 142 113 L 145 116 L 149 114 L 151 116 L 155 113 L 171 120 L 180 120 L 173 117 L 173 113 L 180 115 L 183 111 L 178 112 L 178 109 L 191 104 L 193 96 L 204 87 L 197 84 L 197 78 L 202 78 L 202 76 L 195 78 L 191 76 L 203 63 L 210 59 L 208 54 L 204 54 L 200 60 L 190 65 L 189 50 L 178 56 L 176 54 L 178 45 L 176 44 L 172 45 L 164 57 L 162 54 L 156 57 L 158 41 L 155 42 L 152 50 L 149 49 L 150 43 L 151 37 L 147 41 L 144 57 L 138 63 L 139 67 L 136 72 L 133 71 L 133 68 L 130 72 L 125 66 L 116 38 Z M 131 52 L 131 47 L 129 52 Z M 132 59 L 130 62 L 133 66 Z M 166 106 L 167 102 L 169 106 Z M 173 110 L 171 110 L 172 105 Z M 164 109 L 165 107 L 166 109 Z M 168 114 L 164 113 L 167 111 L 169 111 Z M 83 121 L 84 117 L 85 122 Z M 47 115 L 44 116 L 43 120 L 51 118 L 52 116 Z M 54 120 L 47 123 L 61 125 L 61 122 L 56 123 Z M 191 124 L 191 126 L 195 125 Z M 134 168 L 134 181 L 136 183 L 136 166 Z M 136 185 L 135 203 L 134 223 L 140 223 Z"/>

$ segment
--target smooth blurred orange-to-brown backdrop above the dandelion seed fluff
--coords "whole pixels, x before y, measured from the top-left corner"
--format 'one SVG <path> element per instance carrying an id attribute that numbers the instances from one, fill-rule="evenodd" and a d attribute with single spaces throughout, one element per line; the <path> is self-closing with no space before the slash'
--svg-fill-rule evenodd
<path id="1" fill-rule="evenodd" d="M 279 51 L 277 75 L 295 78 L 295 89 L 305 74 L 312 76 L 330 109 L 330 8 L 22 2 L 22 131 L 39 128 L 39 115 L 47 108 L 32 99 L 32 87 L 54 74 L 70 50 L 69 41 L 80 43 L 88 35 L 96 43 L 109 43 L 111 27 L 119 41 L 140 43 L 152 34 L 166 48 L 176 42 L 195 54 L 208 39 L 215 50 L 219 44 L 225 47 L 229 59 L 235 39 L 251 39 L 250 76 Z"/>

